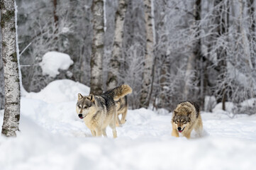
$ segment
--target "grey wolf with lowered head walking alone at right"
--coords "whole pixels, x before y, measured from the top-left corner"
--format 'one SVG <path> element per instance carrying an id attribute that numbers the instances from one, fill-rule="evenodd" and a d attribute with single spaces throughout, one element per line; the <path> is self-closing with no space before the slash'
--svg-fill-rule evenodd
<path id="1" fill-rule="evenodd" d="M 177 105 L 172 114 L 172 136 L 183 135 L 189 139 L 192 130 L 201 136 L 203 123 L 199 106 L 194 102 L 184 101 Z"/>

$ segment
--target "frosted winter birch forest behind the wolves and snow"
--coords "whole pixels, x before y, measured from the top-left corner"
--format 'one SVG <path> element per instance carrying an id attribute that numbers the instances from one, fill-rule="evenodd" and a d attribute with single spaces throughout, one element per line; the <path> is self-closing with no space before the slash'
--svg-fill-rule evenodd
<path id="1" fill-rule="evenodd" d="M 205 111 L 211 111 L 216 102 L 223 102 L 225 110 L 225 102 L 230 101 L 235 103 L 233 113 L 255 113 L 254 0 L 148 1 L 151 4 L 125 1 L 121 55 L 113 58 L 116 16 L 121 13 L 118 2 L 104 1 L 104 91 L 108 89 L 109 74 L 113 73 L 117 84 L 126 83 L 133 88 L 133 94 L 128 96 L 133 109 L 152 104 L 172 111 L 180 101 L 189 100 L 199 103 Z M 55 79 L 72 79 L 90 86 L 94 62 L 92 1 L 16 3 L 24 89 L 38 92 Z M 50 51 L 66 53 L 74 63 L 56 76 L 45 74 L 40 65 L 43 55 Z M 3 72 L 0 62 L 0 109 L 4 108 Z M 209 98 L 212 102 L 204 106 Z M 252 104 L 242 107 L 241 103 L 248 99 Z"/>

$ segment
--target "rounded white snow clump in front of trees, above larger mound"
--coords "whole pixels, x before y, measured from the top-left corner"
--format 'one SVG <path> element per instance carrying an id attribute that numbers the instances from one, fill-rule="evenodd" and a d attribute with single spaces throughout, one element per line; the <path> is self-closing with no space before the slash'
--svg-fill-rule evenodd
<path id="1" fill-rule="evenodd" d="M 43 60 L 40 62 L 40 67 L 43 69 L 44 75 L 50 75 L 50 77 L 56 77 L 59 69 L 67 70 L 74 62 L 70 59 L 70 56 L 62 52 L 46 52 L 43 55 Z"/>

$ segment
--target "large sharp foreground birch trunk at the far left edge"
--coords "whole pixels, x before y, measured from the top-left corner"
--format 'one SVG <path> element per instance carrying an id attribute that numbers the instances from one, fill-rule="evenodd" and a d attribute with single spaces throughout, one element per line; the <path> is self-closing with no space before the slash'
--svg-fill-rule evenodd
<path id="1" fill-rule="evenodd" d="M 16 136 L 20 119 L 20 83 L 16 52 L 14 0 L 1 0 L 2 57 L 4 61 L 5 106 L 2 135 Z"/>

